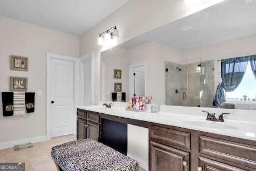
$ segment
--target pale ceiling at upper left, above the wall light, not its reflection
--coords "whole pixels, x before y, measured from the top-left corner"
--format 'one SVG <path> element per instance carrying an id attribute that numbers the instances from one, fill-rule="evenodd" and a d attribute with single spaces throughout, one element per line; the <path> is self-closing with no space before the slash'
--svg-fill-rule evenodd
<path id="1" fill-rule="evenodd" d="M 0 16 L 81 35 L 128 0 L 0 0 Z"/>

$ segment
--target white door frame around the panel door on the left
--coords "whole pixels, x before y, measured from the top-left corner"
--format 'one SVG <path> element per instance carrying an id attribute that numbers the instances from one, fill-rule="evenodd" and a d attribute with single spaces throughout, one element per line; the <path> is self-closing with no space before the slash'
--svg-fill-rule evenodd
<path id="1" fill-rule="evenodd" d="M 71 57 L 62 54 L 56 53 L 47 53 L 46 54 L 46 139 L 51 139 L 51 117 L 50 117 L 50 76 L 51 76 L 51 59 L 62 59 L 66 61 L 74 62 L 74 104 L 73 104 L 73 134 L 76 134 L 75 121 L 76 121 L 76 107 L 80 104 L 80 66 L 79 66 L 79 57 Z M 74 122 L 73 122 L 74 121 Z"/>

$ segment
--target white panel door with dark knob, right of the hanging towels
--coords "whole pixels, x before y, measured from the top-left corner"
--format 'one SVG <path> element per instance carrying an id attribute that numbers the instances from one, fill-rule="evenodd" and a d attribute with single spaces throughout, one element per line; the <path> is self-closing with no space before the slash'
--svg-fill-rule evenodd
<path id="1" fill-rule="evenodd" d="M 51 137 L 73 133 L 74 61 L 51 59 Z"/>

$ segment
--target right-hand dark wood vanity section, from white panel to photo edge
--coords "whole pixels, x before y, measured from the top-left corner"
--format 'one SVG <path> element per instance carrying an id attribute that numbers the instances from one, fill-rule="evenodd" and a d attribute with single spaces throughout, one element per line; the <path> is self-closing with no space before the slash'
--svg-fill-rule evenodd
<path id="1" fill-rule="evenodd" d="M 149 127 L 149 165 L 150 171 L 255 171 L 256 143 L 153 124 Z"/>

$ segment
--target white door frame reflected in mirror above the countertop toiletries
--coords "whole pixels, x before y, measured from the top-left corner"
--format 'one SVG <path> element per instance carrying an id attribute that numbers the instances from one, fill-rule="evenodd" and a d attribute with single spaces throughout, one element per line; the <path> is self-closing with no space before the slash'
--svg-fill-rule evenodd
<path id="1" fill-rule="evenodd" d="M 147 63 L 132 63 L 129 66 L 129 99 L 133 97 L 133 68 L 135 67 L 144 67 L 144 72 L 145 72 L 145 83 L 144 83 L 144 90 L 145 90 L 145 96 L 147 95 L 147 76 L 148 76 L 148 67 Z"/>

